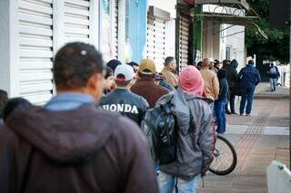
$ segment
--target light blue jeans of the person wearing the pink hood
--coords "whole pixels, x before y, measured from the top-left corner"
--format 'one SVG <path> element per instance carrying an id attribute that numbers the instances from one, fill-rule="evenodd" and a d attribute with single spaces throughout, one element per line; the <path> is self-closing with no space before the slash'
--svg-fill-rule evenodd
<path id="1" fill-rule="evenodd" d="M 194 179 L 189 181 L 167 175 L 162 171 L 158 175 L 158 186 L 160 193 L 196 193 L 196 189 L 198 188 L 200 181 L 200 174 L 196 175 Z"/>

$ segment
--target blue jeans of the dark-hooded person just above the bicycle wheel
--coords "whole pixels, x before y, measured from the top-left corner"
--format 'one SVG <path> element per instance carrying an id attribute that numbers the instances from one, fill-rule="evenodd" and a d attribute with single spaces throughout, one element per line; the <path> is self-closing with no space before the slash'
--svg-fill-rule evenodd
<path id="1" fill-rule="evenodd" d="M 215 102 L 215 111 L 216 111 L 216 122 L 217 122 L 217 132 L 223 133 L 226 132 L 226 104 L 227 99 L 223 101 Z"/>

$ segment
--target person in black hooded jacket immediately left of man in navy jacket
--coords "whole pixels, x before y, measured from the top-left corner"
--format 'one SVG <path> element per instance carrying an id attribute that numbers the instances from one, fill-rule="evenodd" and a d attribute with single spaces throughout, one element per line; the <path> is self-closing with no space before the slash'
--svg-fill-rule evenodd
<path id="1" fill-rule="evenodd" d="M 226 71 L 226 80 L 229 86 L 229 104 L 230 104 L 230 111 L 227 108 L 226 104 L 226 113 L 227 114 L 237 114 L 235 110 L 235 101 L 236 101 L 236 86 L 237 86 L 237 71 L 236 68 L 238 63 L 236 59 L 232 60 L 230 64 L 226 64 L 223 68 Z"/>

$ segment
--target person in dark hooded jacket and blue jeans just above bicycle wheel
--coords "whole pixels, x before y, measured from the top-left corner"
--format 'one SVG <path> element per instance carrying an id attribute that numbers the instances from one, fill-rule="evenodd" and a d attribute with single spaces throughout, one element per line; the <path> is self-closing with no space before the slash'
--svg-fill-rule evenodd
<path id="1" fill-rule="evenodd" d="M 215 101 L 216 121 L 217 121 L 217 132 L 226 132 L 226 104 L 228 97 L 228 83 L 226 81 L 226 71 L 221 69 L 217 72 L 219 80 L 219 95 Z"/>

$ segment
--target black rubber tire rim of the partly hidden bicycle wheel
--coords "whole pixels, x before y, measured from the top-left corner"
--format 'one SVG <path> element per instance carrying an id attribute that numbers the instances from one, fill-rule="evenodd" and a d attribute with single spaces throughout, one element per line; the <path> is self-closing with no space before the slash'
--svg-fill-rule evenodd
<path id="1" fill-rule="evenodd" d="M 226 143 L 226 145 L 228 146 L 228 148 L 232 152 L 233 162 L 232 162 L 231 166 L 225 170 L 211 169 L 211 165 L 210 165 L 209 171 L 211 171 L 212 173 L 214 173 L 218 176 L 226 176 L 227 174 L 230 174 L 234 169 L 236 169 L 237 154 L 236 154 L 236 150 L 235 150 L 234 146 L 231 144 L 231 142 L 229 142 L 229 140 L 226 140 L 225 137 L 223 137 L 221 135 L 217 135 L 217 140 L 222 140 L 223 142 Z"/>

